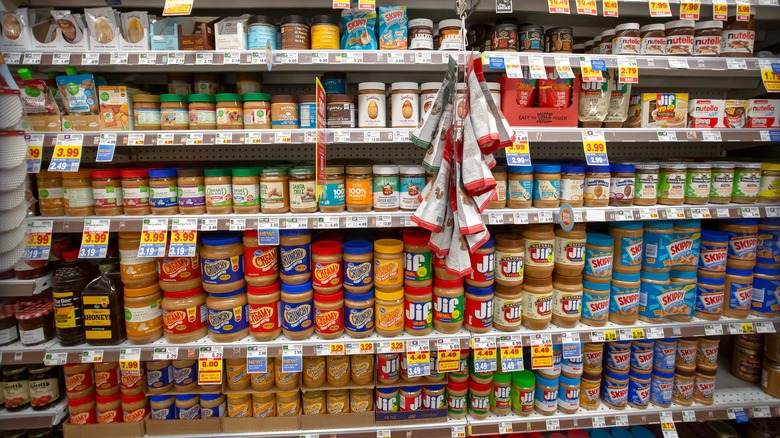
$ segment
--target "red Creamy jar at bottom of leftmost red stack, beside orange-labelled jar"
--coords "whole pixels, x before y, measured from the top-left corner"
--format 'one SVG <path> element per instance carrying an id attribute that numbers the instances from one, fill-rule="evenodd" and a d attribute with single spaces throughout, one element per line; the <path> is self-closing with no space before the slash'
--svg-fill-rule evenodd
<path id="1" fill-rule="evenodd" d="M 206 294 L 201 288 L 183 292 L 165 292 L 163 335 L 168 342 L 185 344 L 206 336 Z"/>

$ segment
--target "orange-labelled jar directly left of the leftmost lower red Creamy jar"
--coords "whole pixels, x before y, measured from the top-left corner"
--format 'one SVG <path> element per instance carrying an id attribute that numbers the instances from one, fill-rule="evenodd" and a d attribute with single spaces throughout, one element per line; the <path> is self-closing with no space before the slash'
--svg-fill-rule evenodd
<path id="1" fill-rule="evenodd" d="M 148 344 L 162 337 L 162 293 L 156 284 L 142 288 L 125 288 L 125 328 L 127 340 Z"/>

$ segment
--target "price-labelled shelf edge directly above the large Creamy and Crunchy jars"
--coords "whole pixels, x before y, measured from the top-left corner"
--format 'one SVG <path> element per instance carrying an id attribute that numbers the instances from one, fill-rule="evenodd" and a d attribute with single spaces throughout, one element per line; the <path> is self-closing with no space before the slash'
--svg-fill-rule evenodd
<path id="1" fill-rule="evenodd" d="M 268 219 L 273 224 L 266 223 L 263 227 L 280 229 L 336 229 L 336 228 L 389 228 L 413 227 L 413 212 L 394 213 L 301 213 L 301 214 L 229 214 L 229 215 L 160 215 L 160 216 L 95 216 L 109 219 L 110 231 L 141 231 L 144 219 L 168 219 L 168 224 L 174 218 L 198 219 L 200 230 L 243 231 L 258 228 L 258 219 Z M 541 223 L 558 223 L 558 208 L 527 208 L 500 210 L 485 210 L 482 218 L 487 225 L 526 225 Z M 775 204 L 709 204 L 702 206 L 681 205 L 665 207 L 603 207 L 575 208 L 576 222 L 613 222 L 640 221 L 659 219 L 737 219 L 758 217 L 780 217 L 780 206 Z M 84 218 L 55 216 L 46 219 L 54 222 L 55 233 L 81 233 L 84 230 Z"/>

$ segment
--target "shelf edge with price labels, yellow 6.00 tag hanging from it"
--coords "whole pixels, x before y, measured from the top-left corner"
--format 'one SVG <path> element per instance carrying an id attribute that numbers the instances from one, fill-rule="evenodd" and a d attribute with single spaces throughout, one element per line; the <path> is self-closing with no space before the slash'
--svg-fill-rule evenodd
<path id="1" fill-rule="evenodd" d="M 346 354 L 360 354 L 369 352 L 404 352 L 406 351 L 406 343 L 408 341 L 428 342 L 430 351 L 437 350 L 439 340 L 447 344 L 457 343 L 460 345 L 460 348 L 465 349 L 471 346 L 473 339 L 476 337 L 481 339 L 486 337 L 496 338 L 494 340 L 497 340 L 500 336 L 509 336 L 515 340 L 519 339 L 523 345 L 529 346 L 530 336 L 534 334 L 550 335 L 552 342 L 559 344 L 561 343 L 561 335 L 563 333 L 578 334 L 580 342 L 603 342 L 609 340 L 775 332 L 780 332 L 780 316 L 774 318 L 758 318 L 755 316 L 745 319 L 722 318 L 719 321 L 704 321 L 694 318 L 693 321 L 689 322 L 668 322 L 663 324 L 648 324 L 640 321 L 630 326 L 619 326 L 609 323 L 604 327 L 591 327 L 580 323 L 574 328 L 561 328 L 551 325 L 545 330 L 521 328 L 515 332 L 493 330 L 484 334 L 473 334 L 462 329 L 454 334 L 432 332 L 426 336 L 410 336 L 403 333 L 394 338 L 385 338 L 374 333 L 364 339 L 350 338 L 345 334 L 341 338 L 334 340 L 323 340 L 312 336 L 303 341 L 290 341 L 284 338 L 284 336 L 280 336 L 278 339 L 269 342 L 258 342 L 251 337 L 246 337 L 237 342 L 214 342 L 210 338 L 204 337 L 187 344 L 176 344 L 165 339 L 159 339 L 146 345 L 134 345 L 130 342 L 123 342 L 119 345 L 111 346 L 89 346 L 84 344 L 74 347 L 63 347 L 56 341 L 52 341 L 40 346 L 23 348 L 20 348 L 18 344 L 12 344 L 0 347 L 0 353 L 2 353 L 3 365 L 40 363 L 43 362 L 45 354 L 64 354 L 62 362 L 80 363 L 81 358 L 85 356 L 85 352 L 87 352 L 87 357 L 100 356 L 102 361 L 115 362 L 119 360 L 119 351 L 125 348 L 140 349 L 141 360 L 143 361 L 152 360 L 155 357 L 155 350 L 158 351 L 158 355 L 161 354 L 160 349 L 166 349 L 168 352 L 175 351 L 179 360 L 185 360 L 197 359 L 200 347 L 217 346 L 222 347 L 224 358 L 233 359 L 245 358 L 247 356 L 247 347 L 256 345 L 266 346 L 268 357 L 280 356 L 284 345 L 302 345 L 304 356 L 327 356 L 331 354 L 331 345 L 334 344 L 341 347 L 334 349 L 336 351 L 343 351 Z"/>

